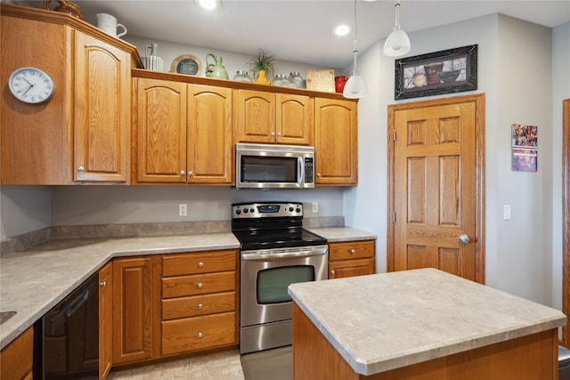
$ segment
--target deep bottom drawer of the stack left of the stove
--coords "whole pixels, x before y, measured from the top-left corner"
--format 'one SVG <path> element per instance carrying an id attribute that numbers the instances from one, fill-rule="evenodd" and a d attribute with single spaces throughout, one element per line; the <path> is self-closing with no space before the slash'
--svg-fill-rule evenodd
<path id="1" fill-rule="evenodd" d="M 235 312 L 162 322 L 162 354 L 237 344 Z"/>

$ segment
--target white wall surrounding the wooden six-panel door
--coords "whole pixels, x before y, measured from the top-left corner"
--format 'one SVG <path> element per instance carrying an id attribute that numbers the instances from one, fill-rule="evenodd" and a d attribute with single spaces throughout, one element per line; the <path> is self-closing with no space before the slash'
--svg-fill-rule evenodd
<path id="1" fill-rule="evenodd" d="M 560 174 L 551 158 L 550 32 L 522 20 L 490 15 L 411 33 L 408 54 L 478 44 L 475 93 L 486 94 L 485 283 L 545 304 L 552 304 L 551 179 Z M 346 224 L 370 226 L 379 236 L 378 271 L 386 271 L 387 105 L 395 103 L 394 59 L 381 53 L 383 44 L 379 41 L 359 58 L 359 70 L 371 87 L 368 97 L 359 102 L 359 157 L 366 161 L 360 162 L 360 185 L 345 193 Z M 468 93 L 473 92 L 458 95 Z M 444 96 L 453 95 L 436 97 Z M 406 101 L 425 99 L 429 98 Z M 513 123 L 539 125 L 537 173 L 511 171 Z M 510 221 L 502 220 L 504 204 L 512 206 Z"/>

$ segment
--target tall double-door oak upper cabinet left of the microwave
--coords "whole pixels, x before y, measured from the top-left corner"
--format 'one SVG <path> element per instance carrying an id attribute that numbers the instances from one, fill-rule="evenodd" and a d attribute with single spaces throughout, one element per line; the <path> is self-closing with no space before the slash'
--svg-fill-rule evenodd
<path id="1" fill-rule="evenodd" d="M 232 90 L 135 78 L 136 181 L 232 183 Z"/>

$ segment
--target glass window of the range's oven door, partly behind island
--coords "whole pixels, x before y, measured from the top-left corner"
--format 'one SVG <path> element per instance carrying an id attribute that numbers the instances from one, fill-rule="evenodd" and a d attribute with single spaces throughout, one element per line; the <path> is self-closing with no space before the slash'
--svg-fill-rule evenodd
<path id="1" fill-rule="evenodd" d="M 314 266 L 295 265 L 257 272 L 257 303 L 289 303 L 287 287 L 297 282 L 314 281 Z"/>

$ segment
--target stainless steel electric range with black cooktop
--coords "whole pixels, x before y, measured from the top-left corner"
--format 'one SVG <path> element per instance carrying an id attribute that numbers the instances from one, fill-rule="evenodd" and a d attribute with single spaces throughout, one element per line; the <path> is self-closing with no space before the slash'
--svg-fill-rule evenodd
<path id="1" fill-rule="evenodd" d="M 240 240 L 240 353 L 292 343 L 287 287 L 327 279 L 327 240 L 303 228 L 303 204 L 232 205 Z"/>

